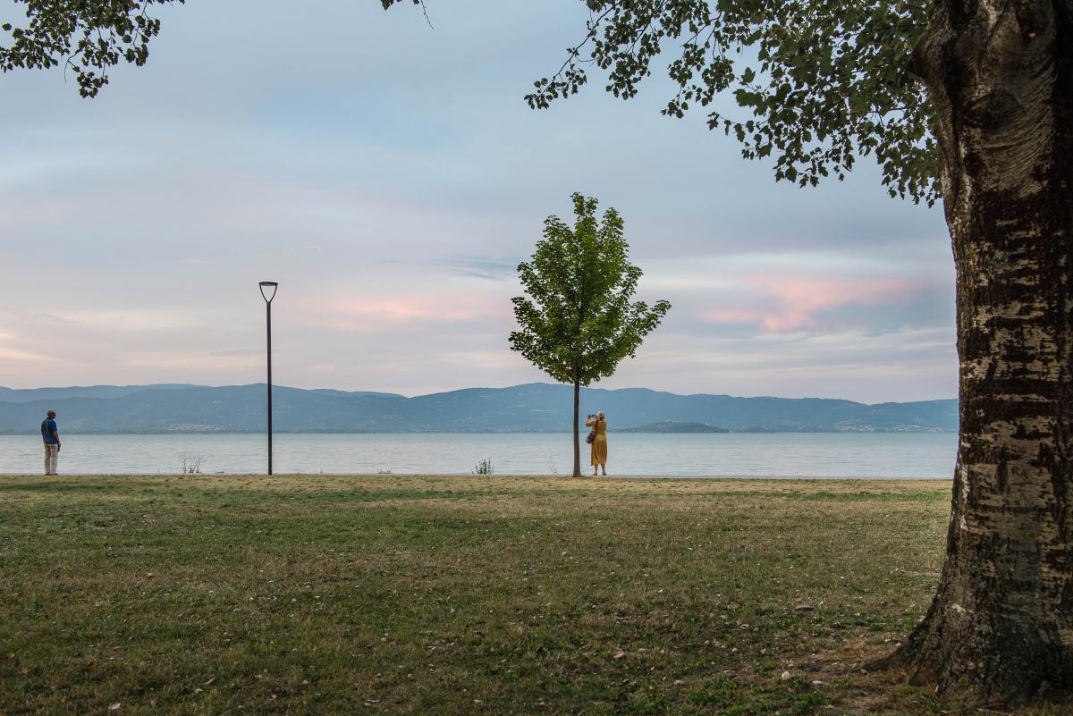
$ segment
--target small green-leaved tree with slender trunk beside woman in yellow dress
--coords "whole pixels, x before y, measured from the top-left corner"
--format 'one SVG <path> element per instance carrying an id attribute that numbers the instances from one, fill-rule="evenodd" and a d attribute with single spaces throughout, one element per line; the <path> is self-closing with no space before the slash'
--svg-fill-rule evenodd
<path id="1" fill-rule="evenodd" d="M 574 477 L 582 474 L 577 409 L 582 386 L 607 377 L 637 350 L 671 309 L 633 302 L 641 269 L 628 260 L 622 219 L 607 209 L 597 221 L 597 200 L 574 194 L 571 229 L 558 217 L 544 222 L 532 259 L 518 265 L 526 296 L 515 296 L 520 330 L 511 349 L 560 383 L 574 386 Z"/>

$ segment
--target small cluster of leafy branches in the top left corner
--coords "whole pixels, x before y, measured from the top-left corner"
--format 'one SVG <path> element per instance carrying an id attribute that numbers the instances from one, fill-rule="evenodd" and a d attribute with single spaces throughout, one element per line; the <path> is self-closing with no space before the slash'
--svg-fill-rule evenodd
<path id="1" fill-rule="evenodd" d="M 0 70 L 74 71 L 78 93 L 97 96 L 107 71 L 120 62 L 145 64 L 149 41 L 160 32 L 153 5 L 186 0 L 14 0 L 26 5 L 26 24 L 0 26 Z"/>

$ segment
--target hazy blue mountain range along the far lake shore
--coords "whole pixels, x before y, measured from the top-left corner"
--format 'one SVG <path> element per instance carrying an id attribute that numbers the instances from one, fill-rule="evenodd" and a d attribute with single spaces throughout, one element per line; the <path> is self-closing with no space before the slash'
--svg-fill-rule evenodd
<path id="1" fill-rule="evenodd" d="M 407 398 L 384 392 L 273 389 L 277 432 L 567 432 L 573 388 L 532 383 Z M 35 433 L 45 411 L 69 433 L 233 433 L 265 430 L 265 386 L 162 384 L 0 388 L 0 433 Z M 677 396 L 646 388 L 582 389 L 582 415 L 611 429 L 692 422 L 733 432 L 947 432 L 957 401 L 865 405 L 823 398 Z M 664 427 L 662 430 L 667 430 Z"/>

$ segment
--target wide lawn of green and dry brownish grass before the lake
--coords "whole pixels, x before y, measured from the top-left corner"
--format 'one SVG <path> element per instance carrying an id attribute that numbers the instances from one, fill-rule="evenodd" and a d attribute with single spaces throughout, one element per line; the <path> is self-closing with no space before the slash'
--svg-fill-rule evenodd
<path id="1" fill-rule="evenodd" d="M 862 665 L 926 610 L 949 492 L 0 477 L 0 714 L 944 713 Z"/>

